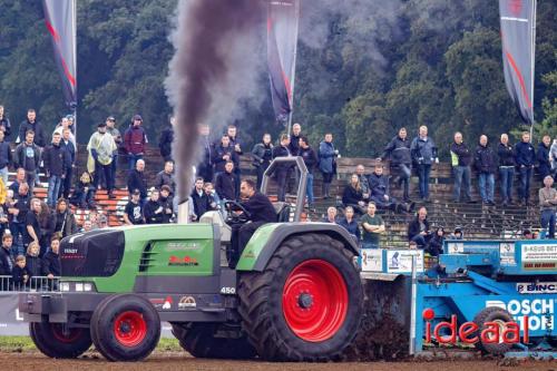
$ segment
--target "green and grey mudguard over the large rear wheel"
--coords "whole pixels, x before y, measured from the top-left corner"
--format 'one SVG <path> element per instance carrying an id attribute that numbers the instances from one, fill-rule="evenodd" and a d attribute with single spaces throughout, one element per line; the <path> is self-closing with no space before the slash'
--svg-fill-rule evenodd
<path id="1" fill-rule="evenodd" d="M 355 238 L 342 226 L 331 223 L 271 223 L 260 227 L 242 253 L 236 271 L 262 272 L 282 242 L 290 236 L 323 233 L 341 241 L 354 256 L 359 256 Z M 323 246 L 326 248 L 326 246 Z"/>

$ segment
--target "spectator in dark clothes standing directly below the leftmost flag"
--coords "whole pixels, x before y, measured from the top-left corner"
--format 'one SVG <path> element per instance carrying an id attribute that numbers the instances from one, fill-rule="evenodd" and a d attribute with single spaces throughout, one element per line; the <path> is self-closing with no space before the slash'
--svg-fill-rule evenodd
<path id="1" fill-rule="evenodd" d="M 69 153 L 60 146 L 60 134 L 52 134 L 52 144 L 45 148 L 42 159 L 48 177 L 48 205 L 55 207 L 67 169 L 71 167 Z"/>

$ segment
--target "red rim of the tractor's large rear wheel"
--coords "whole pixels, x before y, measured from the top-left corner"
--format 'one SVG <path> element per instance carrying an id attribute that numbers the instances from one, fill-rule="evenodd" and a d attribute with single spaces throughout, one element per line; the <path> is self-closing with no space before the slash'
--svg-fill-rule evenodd
<path id="1" fill-rule="evenodd" d="M 321 342 L 334 336 L 348 312 L 348 290 L 336 267 L 322 260 L 299 264 L 289 275 L 282 309 L 299 338 Z"/>

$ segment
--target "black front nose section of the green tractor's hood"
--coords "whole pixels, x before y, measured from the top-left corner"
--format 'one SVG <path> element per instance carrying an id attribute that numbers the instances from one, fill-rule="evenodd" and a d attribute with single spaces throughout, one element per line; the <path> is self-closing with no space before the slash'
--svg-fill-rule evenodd
<path id="1" fill-rule="evenodd" d="M 124 257 L 123 230 L 97 230 L 66 237 L 60 243 L 62 276 L 107 277 Z"/>

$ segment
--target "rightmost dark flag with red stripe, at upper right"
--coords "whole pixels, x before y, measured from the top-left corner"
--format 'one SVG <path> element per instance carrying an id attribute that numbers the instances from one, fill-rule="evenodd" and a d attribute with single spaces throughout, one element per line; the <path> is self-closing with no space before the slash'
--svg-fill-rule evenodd
<path id="1" fill-rule="evenodd" d="M 534 124 L 536 0 L 499 0 L 507 90 L 527 124 Z"/>

